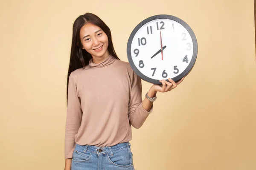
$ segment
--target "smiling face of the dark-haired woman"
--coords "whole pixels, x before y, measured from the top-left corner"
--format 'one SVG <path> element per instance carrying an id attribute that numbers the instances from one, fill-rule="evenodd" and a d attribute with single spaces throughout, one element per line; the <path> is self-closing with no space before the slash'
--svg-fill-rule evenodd
<path id="1" fill-rule="evenodd" d="M 80 29 L 80 40 L 83 49 L 92 55 L 93 60 L 105 59 L 109 56 L 108 36 L 98 26 L 92 23 L 85 24 Z"/>

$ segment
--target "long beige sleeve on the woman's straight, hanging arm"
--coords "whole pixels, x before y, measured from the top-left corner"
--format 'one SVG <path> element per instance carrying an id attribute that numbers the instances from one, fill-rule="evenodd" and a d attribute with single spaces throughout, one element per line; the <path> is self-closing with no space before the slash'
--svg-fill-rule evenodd
<path id="1" fill-rule="evenodd" d="M 65 131 L 65 159 L 73 157 L 75 149 L 75 135 L 77 134 L 81 125 L 82 110 L 81 101 L 78 96 L 76 88 L 76 80 L 72 73 L 69 77 L 68 83 L 68 97 L 67 97 L 67 118 Z"/>

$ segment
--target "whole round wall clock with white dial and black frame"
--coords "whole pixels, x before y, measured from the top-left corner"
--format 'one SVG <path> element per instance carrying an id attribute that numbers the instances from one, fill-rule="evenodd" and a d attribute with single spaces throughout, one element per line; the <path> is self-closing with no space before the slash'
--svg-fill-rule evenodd
<path id="1" fill-rule="evenodd" d="M 139 23 L 128 44 L 128 61 L 143 80 L 161 84 L 160 79 L 175 82 L 191 71 L 198 53 L 194 32 L 172 15 L 156 15 Z"/>

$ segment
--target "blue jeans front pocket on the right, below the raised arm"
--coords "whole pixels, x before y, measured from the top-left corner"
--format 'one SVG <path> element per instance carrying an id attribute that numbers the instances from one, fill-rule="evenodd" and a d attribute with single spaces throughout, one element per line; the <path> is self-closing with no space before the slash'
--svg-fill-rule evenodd
<path id="1" fill-rule="evenodd" d="M 113 156 L 107 154 L 107 158 L 112 165 L 117 167 L 131 167 L 133 165 L 130 147 L 114 151 Z"/>

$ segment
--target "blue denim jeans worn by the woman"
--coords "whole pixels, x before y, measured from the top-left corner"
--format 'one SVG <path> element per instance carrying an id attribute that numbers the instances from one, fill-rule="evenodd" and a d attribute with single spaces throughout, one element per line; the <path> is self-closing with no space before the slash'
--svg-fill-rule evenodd
<path id="1" fill-rule="evenodd" d="M 131 144 L 111 147 L 76 144 L 71 170 L 134 170 Z"/>

